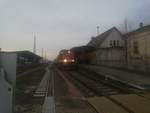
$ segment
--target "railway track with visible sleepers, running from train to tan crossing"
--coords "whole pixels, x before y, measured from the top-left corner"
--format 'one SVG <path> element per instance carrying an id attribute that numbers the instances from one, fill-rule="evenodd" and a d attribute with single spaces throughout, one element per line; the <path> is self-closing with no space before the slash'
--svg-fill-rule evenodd
<path id="1" fill-rule="evenodd" d="M 114 90 L 98 81 L 96 82 L 79 73 L 69 72 L 69 75 L 71 75 L 71 77 L 73 77 L 76 82 L 79 82 L 82 85 L 82 91 L 84 91 L 84 95 L 87 95 L 87 93 L 89 93 L 93 96 L 104 96 L 120 93 L 120 91 Z"/>

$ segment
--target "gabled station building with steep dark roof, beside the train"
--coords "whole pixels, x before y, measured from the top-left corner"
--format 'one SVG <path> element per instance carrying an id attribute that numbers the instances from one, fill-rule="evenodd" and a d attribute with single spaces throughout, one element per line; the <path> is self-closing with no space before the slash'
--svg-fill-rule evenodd
<path id="1" fill-rule="evenodd" d="M 91 64 L 123 67 L 126 63 L 125 37 L 113 27 L 93 37 L 87 46 L 96 48 Z"/>

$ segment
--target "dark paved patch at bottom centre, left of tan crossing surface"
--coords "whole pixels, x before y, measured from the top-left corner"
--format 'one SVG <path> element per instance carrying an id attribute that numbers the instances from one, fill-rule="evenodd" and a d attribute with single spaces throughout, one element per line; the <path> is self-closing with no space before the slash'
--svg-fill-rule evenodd
<path id="1" fill-rule="evenodd" d="M 55 98 L 56 113 L 98 113 L 88 101 L 81 98 Z"/>

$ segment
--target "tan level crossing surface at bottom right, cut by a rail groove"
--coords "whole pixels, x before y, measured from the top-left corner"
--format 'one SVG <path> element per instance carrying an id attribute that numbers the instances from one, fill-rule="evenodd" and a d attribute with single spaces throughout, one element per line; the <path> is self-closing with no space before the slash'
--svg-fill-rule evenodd
<path id="1" fill-rule="evenodd" d="M 149 96 L 146 94 L 146 96 L 150 97 L 150 94 Z M 99 113 L 150 113 L 150 99 L 135 94 L 110 97 L 117 101 L 117 104 L 105 97 L 93 97 L 88 101 Z"/>

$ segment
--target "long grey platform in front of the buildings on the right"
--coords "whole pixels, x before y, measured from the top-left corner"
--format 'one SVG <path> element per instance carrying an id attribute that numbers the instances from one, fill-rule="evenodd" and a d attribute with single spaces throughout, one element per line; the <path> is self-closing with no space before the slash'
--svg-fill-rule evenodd
<path id="1" fill-rule="evenodd" d="M 137 86 L 150 89 L 150 76 L 122 71 L 114 68 L 103 67 L 103 66 L 95 66 L 95 65 L 80 65 L 80 66 L 93 70 L 101 75 L 105 75 L 106 77 L 118 79 L 127 82 L 129 84 L 135 84 Z"/>

